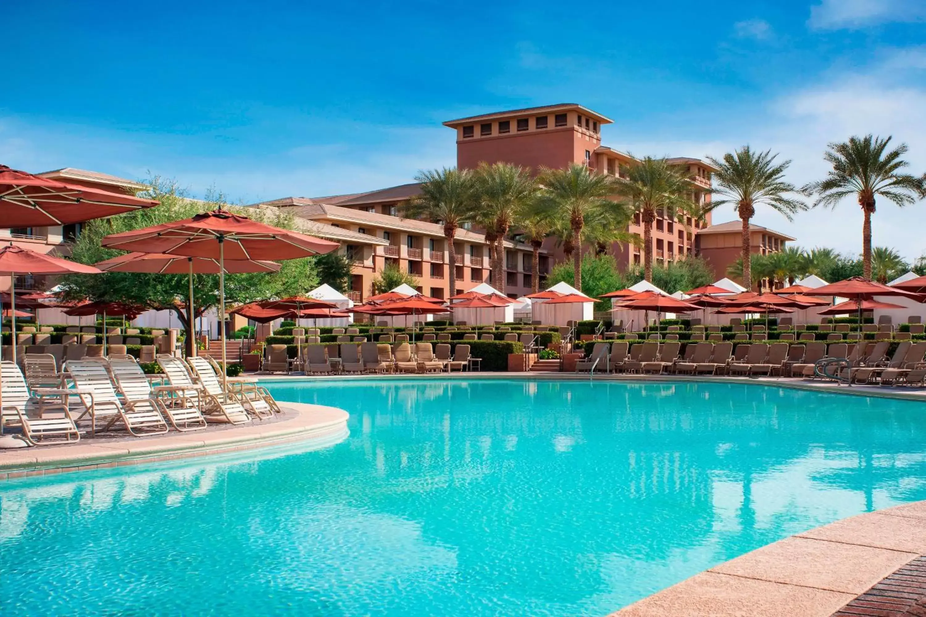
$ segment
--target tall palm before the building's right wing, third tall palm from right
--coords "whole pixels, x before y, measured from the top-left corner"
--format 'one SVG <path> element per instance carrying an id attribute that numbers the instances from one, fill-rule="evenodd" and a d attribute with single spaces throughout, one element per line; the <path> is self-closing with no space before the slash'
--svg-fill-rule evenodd
<path id="1" fill-rule="evenodd" d="M 679 167 L 669 165 L 665 158 L 646 156 L 639 164 L 623 167 L 618 179 L 618 194 L 633 204 L 643 222 L 644 278 L 653 280 L 653 223 L 657 210 L 665 209 L 669 216 L 687 209 L 693 202 L 687 198 L 692 185 Z"/>

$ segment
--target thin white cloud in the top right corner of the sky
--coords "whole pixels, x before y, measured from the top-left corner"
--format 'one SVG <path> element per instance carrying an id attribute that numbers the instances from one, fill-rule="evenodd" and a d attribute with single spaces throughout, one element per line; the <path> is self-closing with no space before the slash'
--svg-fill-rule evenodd
<path id="1" fill-rule="evenodd" d="M 822 0 L 810 7 L 807 25 L 817 30 L 859 30 L 882 23 L 924 19 L 923 0 Z"/>

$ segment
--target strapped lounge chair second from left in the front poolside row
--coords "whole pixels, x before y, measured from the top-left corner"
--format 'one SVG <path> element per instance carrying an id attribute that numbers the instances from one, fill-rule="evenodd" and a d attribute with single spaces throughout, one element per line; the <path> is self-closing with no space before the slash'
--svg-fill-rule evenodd
<path id="1" fill-rule="evenodd" d="M 68 362 L 68 373 L 74 380 L 74 386 L 86 393 L 78 394 L 83 404 L 84 415 L 90 416 L 91 433 L 96 432 L 96 420 L 100 416 L 109 417 L 103 430 L 109 430 L 121 421 L 126 430 L 135 437 L 167 433 L 169 426 L 161 413 L 163 403 L 156 399 L 120 401 L 113 388 L 106 363 L 96 360 L 72 360 Z"/>

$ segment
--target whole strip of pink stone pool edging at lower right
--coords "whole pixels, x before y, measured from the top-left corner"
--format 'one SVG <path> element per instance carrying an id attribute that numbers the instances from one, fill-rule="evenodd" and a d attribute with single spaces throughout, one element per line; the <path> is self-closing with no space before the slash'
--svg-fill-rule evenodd
<path id="1" fill-rule="evenodd" d="M 926 501 L 914 501 L 786 537 L 609 617 L 831 617 L 924 554 Z"/>

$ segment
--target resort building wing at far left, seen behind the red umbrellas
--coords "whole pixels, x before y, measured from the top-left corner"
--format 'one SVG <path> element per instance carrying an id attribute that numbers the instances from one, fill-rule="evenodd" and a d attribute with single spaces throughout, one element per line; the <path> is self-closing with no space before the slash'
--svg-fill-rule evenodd
<path id="1" fill-rule="evenodd" d="M 103 191 L 128 193 L 134 195 L 139 191 L 144 191 L 148 187 L 133 180 L 117 178 L 98 171 L 88 171 L 86 169 L 75 169 L 65 167 L 63 169 L 54 169 L 36 174 L 48 179 L 76 184 L 79 186 L 90 187 L 92 189 L 102 189 Z M 38 253 L 51 253 L 56 251 L 60 255 L 67 256 L 70 254 L 70 247 L 73 241 L 81 234 L 83 223 L 73 225 L 58 225 L 55 227 L 36 227 L 36 228 L 0 228 L 0 242 L 3 244 L 13 243 L 31 251 Z M 47 277 L 42 275 L 22 275 L 16 278 L 16 290 L 46 290 L 49 286 Z M 9 291 L 10 278 L 0 277 L 0 290 Z"/>

